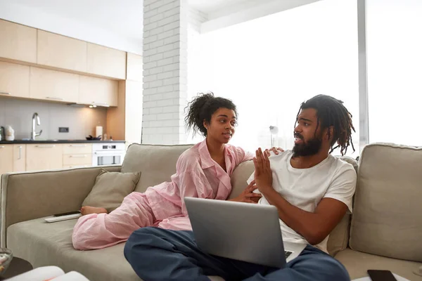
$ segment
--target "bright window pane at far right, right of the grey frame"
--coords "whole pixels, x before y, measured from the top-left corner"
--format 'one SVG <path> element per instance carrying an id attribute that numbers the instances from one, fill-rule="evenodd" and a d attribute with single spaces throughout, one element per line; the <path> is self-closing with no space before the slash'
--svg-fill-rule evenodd
<path id="1" fill-rule="evenodd" d="M 369 141 L 422 145 L 422 1 L 366 0 Z"/>

